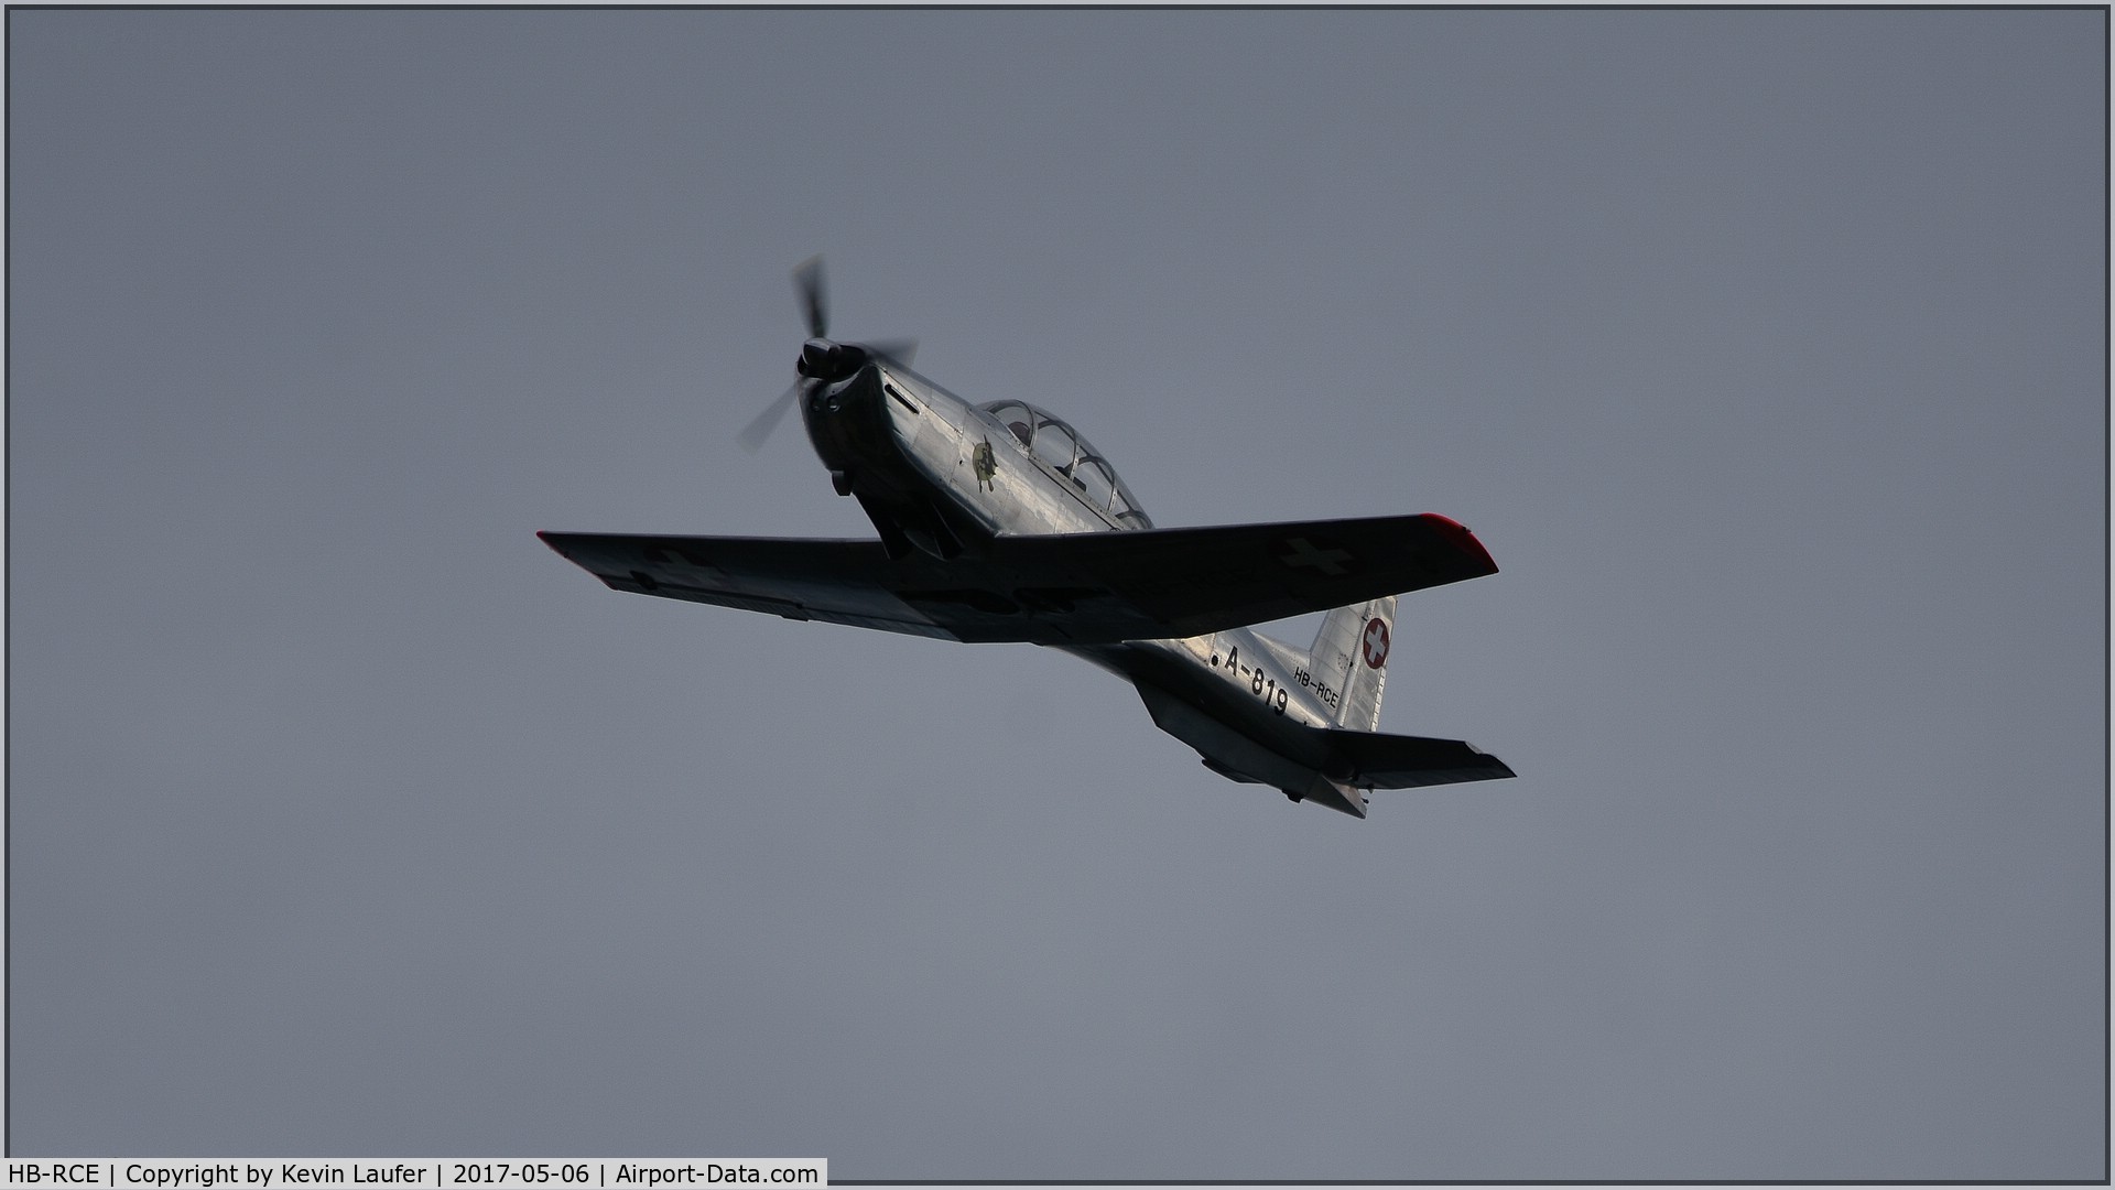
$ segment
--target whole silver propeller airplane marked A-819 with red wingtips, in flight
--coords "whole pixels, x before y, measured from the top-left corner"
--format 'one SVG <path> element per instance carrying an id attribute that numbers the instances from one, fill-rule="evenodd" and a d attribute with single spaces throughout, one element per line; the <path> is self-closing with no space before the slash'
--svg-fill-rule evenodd
<path id="1" fill-rule="evenodd" d="M 789 407 L 878 538 L 537 536 L 613 591 L 1081 656 L 1138 690 L 1206 769 L 1366 817 L 1368 790 L 1512 777 L 1457 739 L 1375 733 L 1396 595 L 1495 574 L 1423 512 L 1161 529 L 1077 430 L 1022 400 L 971 404 L 909 368 L 916 343 L 829 337 L 823 260 L 793 271 L 808 324 Z M 1309 648 L 1252 625 L 1326 612 Z"/>

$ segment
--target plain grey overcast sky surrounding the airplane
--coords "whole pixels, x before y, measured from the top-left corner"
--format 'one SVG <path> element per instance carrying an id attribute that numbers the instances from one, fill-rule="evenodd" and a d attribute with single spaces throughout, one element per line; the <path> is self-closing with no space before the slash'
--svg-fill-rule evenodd
<path id="1" fill-rule="evenodd" d="M 11 11 L 15 1154 L 2098 1179 L 2104 11 Z M 605 591 L 833 330 L 1445 512 L 1368 822 Z M 1305 625 L 1288 629 L 1305 644 Z"/>

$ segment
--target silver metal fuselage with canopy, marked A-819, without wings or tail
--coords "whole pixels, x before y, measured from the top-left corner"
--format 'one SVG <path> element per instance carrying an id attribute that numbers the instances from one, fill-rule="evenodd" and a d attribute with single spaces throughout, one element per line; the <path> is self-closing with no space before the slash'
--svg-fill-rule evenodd
<path id="1" fill-rule="evenodd" d="M 992 540 L 1151 527 L 1096 449 L 1022 402 L 969 404 L 907 366 L 859 360 L 810 379 L 802 421 L 840 495 L 854 495 L 901 555 L 979 555 Z M 1364 817 L 1364 792 L 1330 777 L 1316 735 L 1343 692 L 1307 654 L 1252 629 L 1182 639 L 1062 646 L 1129 680 L 1153 722 L 1206 767 Z"/>

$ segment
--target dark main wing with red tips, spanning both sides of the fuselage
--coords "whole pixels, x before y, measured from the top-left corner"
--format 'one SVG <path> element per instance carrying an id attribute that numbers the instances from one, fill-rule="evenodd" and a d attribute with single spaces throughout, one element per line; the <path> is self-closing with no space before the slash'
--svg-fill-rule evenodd
<path id="1" fill-rule="evenodd" d="M 1497 572 L 1430 512 L 996 538 L 948 561 L 873 540 L 537 536 L 615 591 L 960 642 L 1189 637 Z"/>

